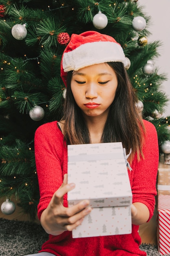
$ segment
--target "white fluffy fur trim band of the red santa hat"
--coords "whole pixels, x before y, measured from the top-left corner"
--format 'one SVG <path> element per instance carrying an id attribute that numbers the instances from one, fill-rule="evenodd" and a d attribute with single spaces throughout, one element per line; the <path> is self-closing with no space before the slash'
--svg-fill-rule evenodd
<path id="1" fill-rule="evenodd" d="M 92 42 L 85 43 L 71 52 L 65 52 L 62 65 L 64 72 L 79 70 L 83 67 L 105 62 L 125 61 L 124 51 L 118 43 Z"/>

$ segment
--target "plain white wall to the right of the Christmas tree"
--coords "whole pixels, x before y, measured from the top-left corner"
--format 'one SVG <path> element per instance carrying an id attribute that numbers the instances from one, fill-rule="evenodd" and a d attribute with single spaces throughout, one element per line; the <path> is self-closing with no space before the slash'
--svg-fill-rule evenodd
<path id="1" fill-rule="evenodd" d="M 158 48 L 160 56 L 155 60 L 155 65 L 159 68 L 159 73 L 166 73 L 168 77 L 161 90 L 169 98 L 163 117 L 170 116 L 170 0 L 138 0 L 138 4 L 144 6 L 147 16 L 151 16 L 148 30 L 152 35 L 148 37 L 148 42 L 162 42 L 162 46 Z"/>

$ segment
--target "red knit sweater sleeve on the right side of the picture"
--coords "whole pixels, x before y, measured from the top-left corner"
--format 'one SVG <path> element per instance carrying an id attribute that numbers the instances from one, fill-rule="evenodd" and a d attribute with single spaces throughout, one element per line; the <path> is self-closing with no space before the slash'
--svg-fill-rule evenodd
<path id="1" fill-rule="evenodd" d="M 130 183 L 132 187 L 132 202 L 141 202 L 145 204 L 150 212 L 150 218 L 153 216 L 155 207 L 155 195 L 157 171 L 159 164 L 159 148 L 157 131 L 155 126 L 149 121 L 144 120 L 146 128 L 145 143 L 143 147 L 144 159 L 137 161 L 135 156 L 132 163 L 133 171 L 130 173 Z"/>

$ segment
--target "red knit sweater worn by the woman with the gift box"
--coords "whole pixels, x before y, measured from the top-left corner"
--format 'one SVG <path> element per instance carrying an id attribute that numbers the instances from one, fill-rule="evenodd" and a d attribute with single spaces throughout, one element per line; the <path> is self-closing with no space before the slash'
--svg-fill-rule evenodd
<path id="1" fill-rule="evenodd" d="M 157 193 L 159 150 L 155 127 L 148 121 L 144 121 L 144 125 L 146 127 L 144 159 L 138 162 L 135 155 L 131 164 L 132 171 L 128 171 L 128 174 L 133 202 L 146 204 L 151 218 Z M 48 206 L 53 193 L 62 184 L 63 175 L 67 173 L 67 148 L 63 139 L 56 121 L 40 126 L 35 132 L 35 160 L 40 186 L 38 218 Z M 64 206 L 67 206 L 66 195 Z M 50 252 L 57 256 L 146 256 L 146 252 L 139 249 L 141 238 L 138 229 L 139 226 L 132 225 L 131 234 L 91 238 L 72 238 L 71 232 L 65 231 L 59 236 L 49 235 L 49 240 L 42 245 L 40 252 Z"/>

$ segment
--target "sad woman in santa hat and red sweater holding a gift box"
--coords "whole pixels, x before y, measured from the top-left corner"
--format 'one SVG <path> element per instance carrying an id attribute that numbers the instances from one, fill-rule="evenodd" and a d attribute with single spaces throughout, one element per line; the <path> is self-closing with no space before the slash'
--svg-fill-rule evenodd
<path id="1" fill-rule="evenodd" d="M 141 119 L 136 96 L 124 68 L 124 52 L 114 38 L 95 31 L 73 34 L 61 63 L 67 87 L 64 117 L 35 133 L 40 186 L 38 217 L 49 234 L 37 256 L 137 256 L 139 225 L 153 215 L 159 161 L 157 132 Z M 67 207 L 67 145 L 121 141 L 132 153 L 128 170 L 132 188 L 132 233 L 72 238 L 71 231 L 90 213 L 88 200 Z"/>

